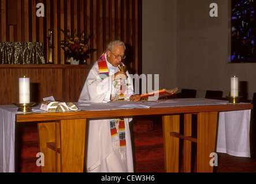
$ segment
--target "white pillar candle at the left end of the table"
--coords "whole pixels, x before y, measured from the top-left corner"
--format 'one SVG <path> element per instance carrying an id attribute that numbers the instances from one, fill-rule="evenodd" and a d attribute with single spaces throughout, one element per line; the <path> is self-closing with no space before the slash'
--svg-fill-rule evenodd
<path id="1" fill-rule="evenodd" d="M 30 103 L 30 87 L 29 87 L 29 78 L 19 78 L 18 88 L 20 95 L 20 104 Z"/>

